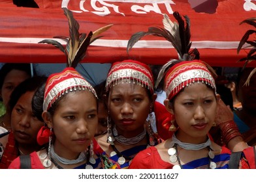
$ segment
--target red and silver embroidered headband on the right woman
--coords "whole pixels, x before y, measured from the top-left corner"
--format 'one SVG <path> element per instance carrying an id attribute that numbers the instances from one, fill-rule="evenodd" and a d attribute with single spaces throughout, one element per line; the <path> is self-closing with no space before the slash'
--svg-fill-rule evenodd
<path id="1" fill-rule="evenodd" d="M 165 76 L 167 98 L 174 98 L 182 88 L 195 82 L 210 85 L 216 92 L 214 77 L 202 61 L 182 61 L 175 64 Z"/>

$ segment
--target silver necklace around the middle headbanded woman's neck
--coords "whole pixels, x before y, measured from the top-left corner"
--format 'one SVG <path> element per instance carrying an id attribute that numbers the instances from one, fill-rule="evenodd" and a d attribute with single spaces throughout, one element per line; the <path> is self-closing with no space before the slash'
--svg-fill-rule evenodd
<path id="1" fill-rule="evenodd" d="M 146 129 L 144 129 L 144 131 L 142 131 L 142 133 L 140 133 L 137 136 L 134 136 L 132 138 L 125 138 L 125 136 L 118 135 L 116 126 L 113 127 L 114 138 L 118 140 L 120 144 L 123 144 L 123 145 L 138 144 L 138 142 L 140 142 L 146 136 L 146 132 L 147 132 Z"/>

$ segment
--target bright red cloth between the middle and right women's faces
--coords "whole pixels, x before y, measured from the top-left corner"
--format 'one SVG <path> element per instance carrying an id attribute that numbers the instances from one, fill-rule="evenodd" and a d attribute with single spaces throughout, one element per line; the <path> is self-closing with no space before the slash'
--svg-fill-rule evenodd
<path id="1" fill-rule="evenodd" d="M 172 132 L 168 130 L 170 127 L 170 121 L 172 120 L 172 114 L 168 112 L 165 106 L 157 101 L 154 103 L 155 120 L 157 125 L 157 133 L 167 140 L 172 136 Z"/>

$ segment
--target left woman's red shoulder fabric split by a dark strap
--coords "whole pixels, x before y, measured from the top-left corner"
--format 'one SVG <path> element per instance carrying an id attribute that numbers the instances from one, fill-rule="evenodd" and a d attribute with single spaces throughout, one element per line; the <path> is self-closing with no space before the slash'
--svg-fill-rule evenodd
<path id="1" fill-rule="evenodd" d="M 31 169 L 44 169 L 44 166 L 42 165 L 42 162 L 39 159 L 39 156 L 37 155 L 36 151 L 33 151 L 30 153 L 31 157 Z M 20 157 L 17 157 L 12 161 L 8 169 L 20 169 Z"/>

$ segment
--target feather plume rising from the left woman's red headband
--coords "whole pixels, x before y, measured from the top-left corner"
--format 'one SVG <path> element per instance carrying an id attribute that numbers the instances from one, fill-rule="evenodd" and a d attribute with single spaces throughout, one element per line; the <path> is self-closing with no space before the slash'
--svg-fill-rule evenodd
<path id="1" fill-rule="evenodd" d="M 76 19 L 74 19 L 74 16 L 71 12 L 71 10 L 68 10 L 67 8 L 63 8 L 65 16 L 67 16 L 67 19 L 69 20 L 69 36 L 54 36 L 54 38 L 61 38 L 65 42 L 67 42 L 66 47 L 61 45 L 61 43 L 57 42 L 56 40 L 46 39 L 42 40 L 39 43 L 47 43 L 52 44 L 59 48 L 63 53 L 65 53 L 65 56 L 67 58 L 67 67 L 76 68 L 77 64 L 80 62 L 80 60 L 84 59 L 86 57 L 86 50 L 92 42 L 100 38 L 99 34 L 102 32 L 108 30 L 110 27 L 112 27 L 113 24 L 106 25 L 104 27 L 101 27 L 100 29 L 97 29 L 94 32 L 89 32 L 87 35 L 86 33 L 80 33 L 79 28 L 80 25 Z"/>

